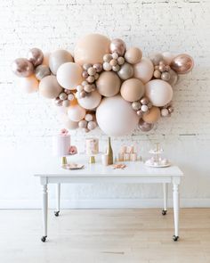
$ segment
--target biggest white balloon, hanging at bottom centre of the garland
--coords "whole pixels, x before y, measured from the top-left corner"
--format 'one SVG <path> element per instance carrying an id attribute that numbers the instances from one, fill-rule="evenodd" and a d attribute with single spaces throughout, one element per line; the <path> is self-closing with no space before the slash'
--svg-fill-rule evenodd
<path id="1" fill-rule="evenodd" d="M 103 98 L 96 110 L 96 119 L 101 130 L 109 136 L 131 134 L 139 122 L 131 103 L 120 96 Z"/>

